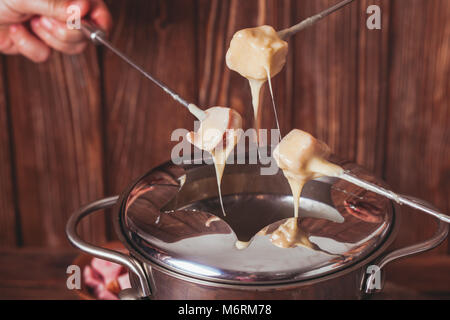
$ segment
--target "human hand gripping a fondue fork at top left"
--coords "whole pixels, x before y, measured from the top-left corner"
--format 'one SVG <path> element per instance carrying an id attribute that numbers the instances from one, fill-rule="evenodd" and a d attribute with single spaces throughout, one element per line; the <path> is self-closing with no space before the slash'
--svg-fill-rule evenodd
<path id="1" fill-rule="evenodd" d="M 109 31 L 112 17 L 103 0 L 0 0 L 0 53 L 22 54 L 34 62 L 48 59 L 51 49 L 79 54 L 86 45 L 80 30 L 66 22 L 71 5 Z"/>

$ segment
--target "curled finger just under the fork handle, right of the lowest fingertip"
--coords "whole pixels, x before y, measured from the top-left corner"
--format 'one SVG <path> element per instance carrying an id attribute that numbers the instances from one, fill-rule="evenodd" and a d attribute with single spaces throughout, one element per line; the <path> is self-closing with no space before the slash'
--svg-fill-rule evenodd
<path id="1" fill-rule="evenodd" d="M 79 54 L 86 48 L 87 42 L 84 38 L 80 39 L 76 34 L 72 33 L 62 36 L 55 31 L 55 28 L 49 30 L 49 28 L 44 26 L 43 19 L 34 18 L 31 21 L 31 28 L 49 47 L 67 54 Z"/>

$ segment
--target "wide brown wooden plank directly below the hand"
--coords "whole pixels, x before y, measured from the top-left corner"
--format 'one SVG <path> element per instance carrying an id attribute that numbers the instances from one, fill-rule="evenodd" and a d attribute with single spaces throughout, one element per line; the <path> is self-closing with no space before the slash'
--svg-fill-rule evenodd
<path id="1" fill-rule="evenodd" d="M 103 195 L 99 71 L 95 49 L 54 53 L 42 65 L 8 61 L 18 204 L 24 246 L 68 246 L 69 215 Z M 104 239 L 104 217 L 84 224 Z"/>

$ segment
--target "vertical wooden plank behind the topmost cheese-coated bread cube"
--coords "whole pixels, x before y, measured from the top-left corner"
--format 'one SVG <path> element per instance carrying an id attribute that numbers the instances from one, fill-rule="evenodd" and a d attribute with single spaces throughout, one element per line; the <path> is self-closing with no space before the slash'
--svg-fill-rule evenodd
<path id="1" fill-rule="evenodd" d="M 220 1 L 199 0 L 198 5 L 198 74 L 199 103 L 202 106 L 221 105 L 236 109 L 244 118 L 244 127 L 254 127 L 248 81 L 227 68 L 225 55 L 234 33 L 263 24 L 279 30 L 291 23 L 292 1 L 249 0 Z M 284 134 L 291 129 L 292 60 L 273 80 L 276 88 L 280 126 Z M 276 128 L 268 85 L 261 97 L 261 127 Z"/>

